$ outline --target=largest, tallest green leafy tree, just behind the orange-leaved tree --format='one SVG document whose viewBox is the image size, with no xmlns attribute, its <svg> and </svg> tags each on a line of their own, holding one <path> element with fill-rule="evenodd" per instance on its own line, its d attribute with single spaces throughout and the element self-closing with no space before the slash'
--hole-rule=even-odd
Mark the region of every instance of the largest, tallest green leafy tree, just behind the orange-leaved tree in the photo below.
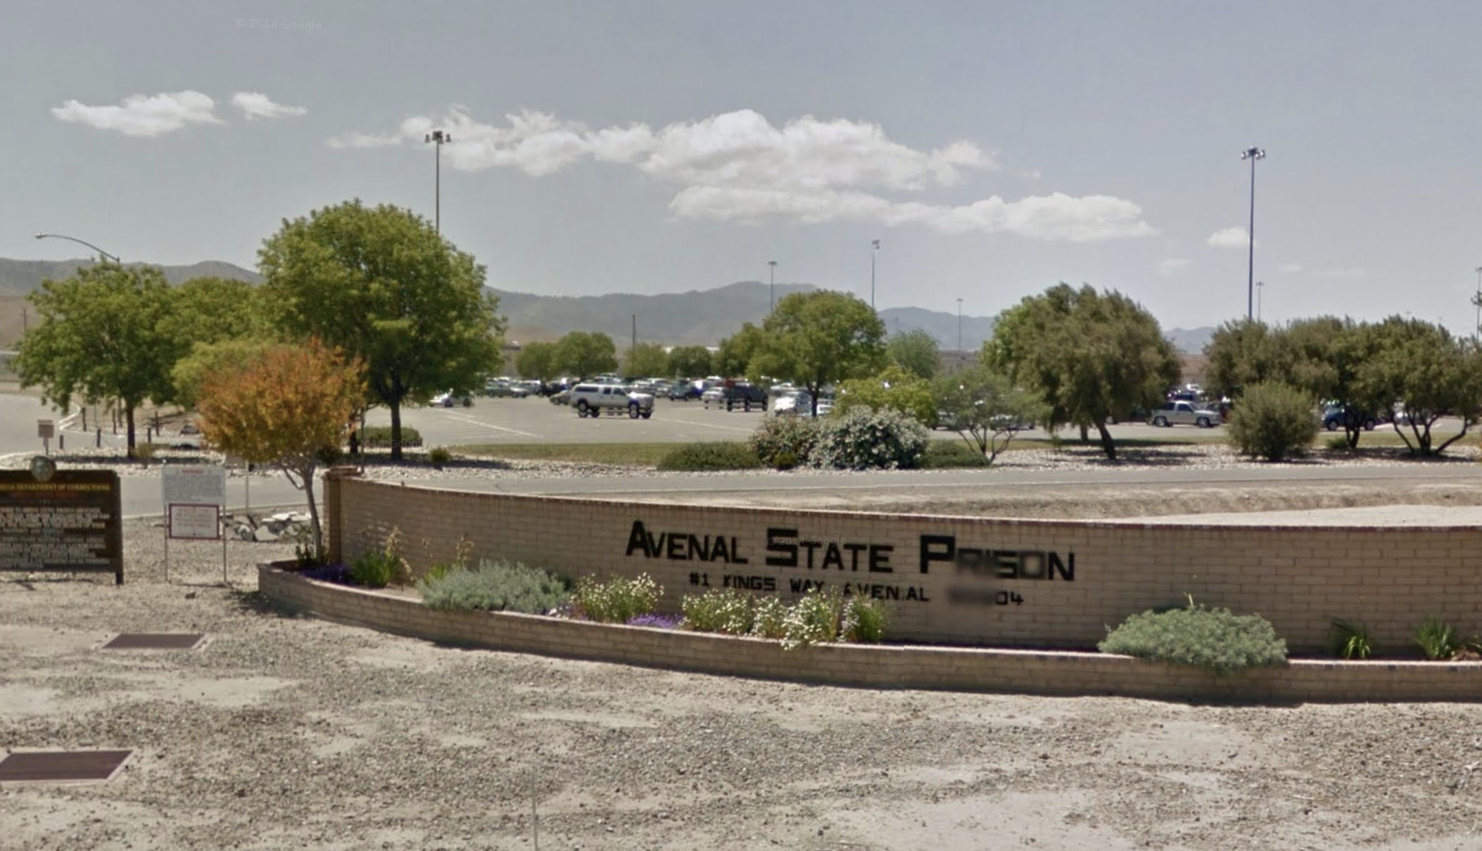
<svg viewBox="0 0 1482 851">
<path fill-rule="evenodd" d="M 485 268 L 409 210 L 359 200 L 285 221 L 258 250 L 262 297 L 293 337 L 319 337 L 365 363 L 370 397 L 391 413 L 442 391 L 471 394 L 502 363 L 498 299 Z"/>
</svg>

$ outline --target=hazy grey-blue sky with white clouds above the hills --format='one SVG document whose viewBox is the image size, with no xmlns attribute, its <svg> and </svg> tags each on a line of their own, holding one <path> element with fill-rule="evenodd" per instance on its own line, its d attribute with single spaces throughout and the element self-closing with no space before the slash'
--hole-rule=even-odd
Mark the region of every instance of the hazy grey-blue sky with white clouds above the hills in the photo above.
<svg viewBox="0 0 1482 851">
<path fill-rule="evenodd" d="M 541 295 L 812 283 L 991 315 L 1472 333 L 1482 3 L 4 0 L 0 256 L 256 265 L 353 197 Z"/>
</svg>

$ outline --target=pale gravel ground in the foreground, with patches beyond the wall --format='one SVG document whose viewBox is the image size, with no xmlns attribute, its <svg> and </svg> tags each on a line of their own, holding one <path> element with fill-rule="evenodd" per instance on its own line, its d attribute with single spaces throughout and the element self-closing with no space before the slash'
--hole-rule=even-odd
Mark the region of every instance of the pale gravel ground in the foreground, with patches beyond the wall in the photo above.
<svg viewBox="0 0 1482 851">
<path fill-rule="evenodd" d="M 1226 490 L 1212 503 L 1240 502 Z M 1026 512 L 1128 514 L 1106 500 Z M 0 848 L 1482 848 L 1482 706 L 868 691 L 455 650 L 267 608 L 252 565 L 288 546 L 228 545 L 222 588 L 215 545 L 172 546 L 166 583 L 162 530 L 124 537 L 122 588 L 0 574 L 0 747 L 136 749 L 107 784 L 0 786 Z M 117 632 L 209 639 L 98 650 Z"/>
</svg>

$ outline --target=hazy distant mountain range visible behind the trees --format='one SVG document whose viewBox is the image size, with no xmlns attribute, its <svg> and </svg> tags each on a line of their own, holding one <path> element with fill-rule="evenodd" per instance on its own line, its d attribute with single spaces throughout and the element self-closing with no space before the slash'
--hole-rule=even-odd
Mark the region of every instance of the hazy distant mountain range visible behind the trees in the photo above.
<svg viewBox="0 0 1482 851">
<path fill-rule="evenodd" d="M 13 348 L 19 340 L 30 311 L 25 293 L 36 290 L 46 278 L 61 280 L 92 260 L 12 260 L 0 258 L 0 348 Z M 160 266 L 166 280 L 178 284 L 188 278 L 215 275 L 249 283 L 261 283 L 256 272 L 221 260 L 205 260 L 188 266 Z M 811 292 L 811 284 L 777 284 L 777 297 Z M 508 318 L 505 334 L 514 342 L 554 340 L 566 332 L 600 332 L 627 348 L 634 330 L 640 342 L 662 345 L 717 345 L 734 334 L 742 323 L 760 324 L 771 311 L 772 290 L 763 281 L 738 281 L 711 290 L 661 293 L 608 293 L 603 296 L 536 296 L 489 287 L 499 299 L 499 312 Z M 993 334 L 994 317 L 972 317 L 922 308 L 885 308 L 880 311 L 885 329 L 901 333 L 922 329 L 943 351 L 977 351 Z M 1214 329 L 1172 329 L 1168 337 L 1184 352 L 1199 352 Z"/>
</svg>

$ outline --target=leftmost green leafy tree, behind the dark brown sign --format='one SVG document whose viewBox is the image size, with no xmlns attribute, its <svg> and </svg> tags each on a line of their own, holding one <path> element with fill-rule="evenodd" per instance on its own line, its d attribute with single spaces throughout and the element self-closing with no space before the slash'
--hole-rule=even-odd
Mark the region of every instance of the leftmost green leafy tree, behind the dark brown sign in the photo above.
<svg viewBox="0 0 1482 851">
<path fill-rule="evenodd" d="M 21 386 L 40 386 L 61 410 L 74 397 L 117 400 L 135 457 L 135 410 L 173 395 L 170 369 L 184 352 L 169 329 L 170 289 L 156 266 L 99 263 L 27 296 L 40 321 L 21 337 Z"/>
</svg>

